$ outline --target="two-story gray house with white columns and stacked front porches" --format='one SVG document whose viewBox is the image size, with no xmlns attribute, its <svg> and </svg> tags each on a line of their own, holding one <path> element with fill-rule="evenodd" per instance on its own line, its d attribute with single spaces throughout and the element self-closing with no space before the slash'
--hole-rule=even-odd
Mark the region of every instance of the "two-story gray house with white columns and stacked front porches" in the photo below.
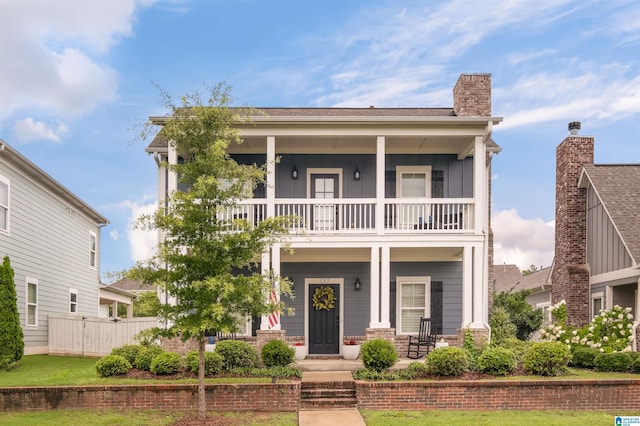
<svg viewBox="0 0 640 426">
<path fill-rule="evenodd" d="M 239 209 L 254 221 L 302 218 L 288 236 L 294 253 L 276 245 L 262 258 L 262 270 L 289 277 L 296 293 L 287 300 L 295 316 L 271 330 L 304 340 L 310 354 L 336 355 L 346 336 L 401 347 L 420 317 L 453 341 L 465 327 L 488 335 L 490 167 L 500 151 L 491 132 L 502 120 L 491 116 L 489 74 L 461 75 L 453 107 L 261 111 L 238 124 L 244 143 L 229 147 L 239 163 L 269 164 L 266 185 Z M 163 164 L 181 156 L 161 137 L 147 152 L 164 203 L 178 183 Z M 334 309 L 314 308 L 323 291 L 334 293 Z M 270 329 L 266 318 L 243 328 Z"/>
</svg>

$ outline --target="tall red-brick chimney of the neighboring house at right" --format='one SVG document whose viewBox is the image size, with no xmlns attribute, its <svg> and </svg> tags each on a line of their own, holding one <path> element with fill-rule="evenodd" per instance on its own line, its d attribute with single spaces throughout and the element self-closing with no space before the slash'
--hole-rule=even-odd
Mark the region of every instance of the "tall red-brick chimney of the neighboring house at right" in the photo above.
<svg viewBox="0 0 640 426">
<path fill-rule="evenodd" d="M 551 300 L 567 302 L 567 325 L 589 322 L 587 193 L 578 188 L 583 164 L 593 164 L 594 138 L 579 136 L 580 122 L 556 149 L 556 241 Z"/>
</svg>

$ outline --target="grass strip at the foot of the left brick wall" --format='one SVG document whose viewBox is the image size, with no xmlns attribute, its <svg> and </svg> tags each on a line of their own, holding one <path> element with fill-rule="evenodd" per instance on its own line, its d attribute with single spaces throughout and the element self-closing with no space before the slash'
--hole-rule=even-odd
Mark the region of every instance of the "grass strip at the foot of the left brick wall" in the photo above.
<svg viewBox="0 0 640 426">
<path fill-rule="evenodd" d="M 194 414 L 194 413 L 190 413 Z M 210 413 L 214 414 L 214 413 Z M 293 426 L 298 424 L 297 413 L 215 413 L 234 419 L 242 425 Z M 170 425 L 185 413 L 176 411 L 92 411 L 61 410 L 30 413 L 3 413 L 0 425 L 92 425 L 92 426 L 160 426 Z"/>
</svg>

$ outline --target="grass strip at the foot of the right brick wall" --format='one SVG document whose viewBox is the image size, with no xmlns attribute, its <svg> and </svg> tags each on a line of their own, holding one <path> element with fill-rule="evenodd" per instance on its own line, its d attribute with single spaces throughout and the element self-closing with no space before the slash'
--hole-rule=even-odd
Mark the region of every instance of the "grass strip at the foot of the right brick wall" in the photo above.
<svg viewBox="0 0 640 426">
<path fill-rule="evenodd" d="M 615 423 L 615 416 L 636 416 L 630 412 L 600 411 L 371 411 L 363 410 L 368 426 L 413 425 L 607 425 Z"/>
</svg>

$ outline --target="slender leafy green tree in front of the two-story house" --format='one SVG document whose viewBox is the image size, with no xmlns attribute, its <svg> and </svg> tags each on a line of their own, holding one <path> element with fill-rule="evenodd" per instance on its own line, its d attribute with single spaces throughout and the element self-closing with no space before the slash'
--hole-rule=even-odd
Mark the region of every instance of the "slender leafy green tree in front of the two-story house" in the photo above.
<svg viewBox="0 0 640 426">
<path fill-rule="evenodd" d="M 241 143 L 232 126 L 247 121 L 249 111 L 228 107 L 226 86 L 211 88 L 206 101 L 190 93 L 179 106 L 166 92 L 161 96 L 171 114 L 160 137 L 185 160 L 165 166 L 188 189 L 168 194 L 166 207 L 139 219 L 139 227 L 160 230 L 164 239 L 157 254 L 128 275 L 160 285 L 175 299 L 159 307 L 158 316 L 168 326 L 155 329 L 157 336 L 198 341 L 198 415 L 204 418 L 205 331 L 235 332 L 238 317 L 282 311 L 280 302 L 269 302 L 269 294 L 274 285 L 290 294 L 289 283 L 253 269 L 270 245 L 282 241 L 291 218 L 254 224 L 229 213 L 238 211 L 249 188 L 264 182 L 266 165 L 241 165 L 227 154 L 230 144 Z M 153 136 L 152 128 L 150 122 L 144 125 L 143 140 Z"/>
</svg>

